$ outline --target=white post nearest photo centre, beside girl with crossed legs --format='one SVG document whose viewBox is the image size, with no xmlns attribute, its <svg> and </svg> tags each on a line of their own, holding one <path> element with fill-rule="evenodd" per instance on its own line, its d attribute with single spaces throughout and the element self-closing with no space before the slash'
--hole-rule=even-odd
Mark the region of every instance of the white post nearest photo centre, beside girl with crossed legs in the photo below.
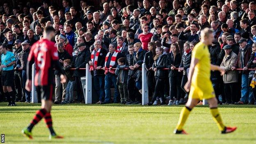
<svg viewBox="0 0 256 144">
<path fill-rule="evenodd" d="M 142 105 L 149 103 L 149 87 L 146 78 L 146 68 L 145 63 L 142 64 Z"/>
</svg>

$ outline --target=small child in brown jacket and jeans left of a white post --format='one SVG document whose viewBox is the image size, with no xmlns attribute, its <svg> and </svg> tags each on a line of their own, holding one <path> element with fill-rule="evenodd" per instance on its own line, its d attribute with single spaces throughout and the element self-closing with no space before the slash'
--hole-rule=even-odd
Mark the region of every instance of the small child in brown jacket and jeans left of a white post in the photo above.
<svg viewBox="0 0 256 144">
<path fill-rule="evenodd" d="M 72 65 L 70 59 L 65 59 L 64 61 L 64 71 L 66 72 L 68 78 L 68 84 L 66 86 L 66 99 L 65 103 L 73 102 L 73 71 L 70 71 Z"/>
</svg>

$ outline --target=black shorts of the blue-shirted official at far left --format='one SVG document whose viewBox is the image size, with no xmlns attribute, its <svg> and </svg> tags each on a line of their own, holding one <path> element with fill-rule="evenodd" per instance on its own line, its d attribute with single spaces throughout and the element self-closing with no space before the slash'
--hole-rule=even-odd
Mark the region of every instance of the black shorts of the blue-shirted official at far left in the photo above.
<svg viewBox="0 0 256 144">
<path fill-rule="evenodd" d="M 14 86 L 14 70 L 2 71 L 2 86 Z"/>
</svg>

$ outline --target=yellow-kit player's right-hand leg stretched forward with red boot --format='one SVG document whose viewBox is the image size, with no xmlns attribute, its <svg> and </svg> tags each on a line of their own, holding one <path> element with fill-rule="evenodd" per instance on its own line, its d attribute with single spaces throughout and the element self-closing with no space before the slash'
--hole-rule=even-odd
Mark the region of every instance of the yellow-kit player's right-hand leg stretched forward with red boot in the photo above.
<svg viewBox="0 0 256 144">
<path fill-rule="evenodd" d="M 209 103 L 209 107 L 210 107 L 210 112 L 213 116 L 214 121 L 217 123 L 217 126 L 219 128 L 219 130 L 224 134 L 224 133 L 232 133 L 233 131 L 236 130 L 236 127 L 226 127 L 224 126 L 223 122 L 222 122 L 222 118 L 219 114 L 219 110 L 217 108 L 218 106 L 218 101 L 216 99 L 216 97 L 214 98 L 210 98 L 207 100 Z"/>
</svg>

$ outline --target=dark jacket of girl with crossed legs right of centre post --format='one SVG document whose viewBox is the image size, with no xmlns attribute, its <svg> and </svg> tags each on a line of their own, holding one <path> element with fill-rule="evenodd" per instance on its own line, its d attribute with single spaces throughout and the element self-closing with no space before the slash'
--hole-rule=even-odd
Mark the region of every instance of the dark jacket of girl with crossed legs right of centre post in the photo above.
<svg viewBox="0 0 256 144">
<path fill-rule="evenodd" d="M 155 77 L 159 78 L 159 79 L 165 79 L 166 75 L 167 75 L 167 71 L 166 70 L 162 70 L 164 68 L 166 68 L 167 66 L 167 54 L 163 53 L 160 57 L 158 57 L 158 59 L 156 59 L 154 61 L 154 64 L 152 66 L 152 68 L 156 68 L 157 71 L 155 71 Z"/>
</svg>

